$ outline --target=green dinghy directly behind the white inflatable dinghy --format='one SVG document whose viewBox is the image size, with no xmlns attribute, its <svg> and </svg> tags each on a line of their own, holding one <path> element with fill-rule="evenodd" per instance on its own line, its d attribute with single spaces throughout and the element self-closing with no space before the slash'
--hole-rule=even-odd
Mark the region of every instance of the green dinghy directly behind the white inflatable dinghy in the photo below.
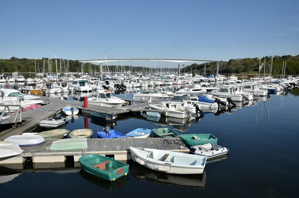
<svg viewBox="0 0 299 198">
<path fill-rule="evenodd" d="M 217 144 L 218 139 L 212 134 L 183 134 L 179 138 L 188 147 L 207 143 Z"/>
</svg>

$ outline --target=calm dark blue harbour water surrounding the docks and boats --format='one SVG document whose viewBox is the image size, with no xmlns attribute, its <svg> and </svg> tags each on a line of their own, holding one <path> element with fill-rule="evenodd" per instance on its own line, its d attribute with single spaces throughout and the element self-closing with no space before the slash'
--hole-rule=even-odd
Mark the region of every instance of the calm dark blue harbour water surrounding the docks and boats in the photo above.
<svg viewBox="0 0 299 198">
<path fill-rule="evenodd" d="M 132 93 L 125 95 L 132 97 Z M 80 95 L 65 99 L 76 98 L 80 99 Z M 232 110 L 233 113 L 218 116 L 207 113 L 197 123 L 193 120 L 177 125 L 180 121 L 165 118 L 152 121 L 138 114 L 129 118 L 119 116 L 113 127 L 124 134 L 136 128 L 161 126 L 184 134 L 212 133 L 218 138 L 219 145 L 230 149 L 229 156 L 207 164 L 204 174 L 195 176 L 157 173 L 128 161 L 130 176 L 114 183 L 94 178 L 80 169 L 22 173 L 3 170 L 2 167 L 0 175 L 21 174 L 10 182 L 0 184 L 0 192 L 1 195 L 30 197 L 297 197 L 298 110 L 299 89 L 296 89 L 285 95 L 271 95 L 265 101 L 254 101 Z M 65 129 L 74 130 L 85 125 L 94 131 L 93 138 L 97 138 L 96 133 L 106 124 L 79 116 Z"/>
</svg>

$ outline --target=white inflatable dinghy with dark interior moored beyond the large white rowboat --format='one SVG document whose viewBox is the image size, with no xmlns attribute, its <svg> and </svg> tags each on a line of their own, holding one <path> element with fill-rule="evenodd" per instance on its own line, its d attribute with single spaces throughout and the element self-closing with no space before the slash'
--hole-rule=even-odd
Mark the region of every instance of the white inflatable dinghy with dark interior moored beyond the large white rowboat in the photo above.
<svg viewBox="0 0 299 198">
<path fill-rule="evenodd" d="M 208 160 L 225 155 L 228 151 L 229 149 L 213 143 L 190 147 L 190 153 L 193 153 L 194 155 L 205 156 Z"/>
</svg>

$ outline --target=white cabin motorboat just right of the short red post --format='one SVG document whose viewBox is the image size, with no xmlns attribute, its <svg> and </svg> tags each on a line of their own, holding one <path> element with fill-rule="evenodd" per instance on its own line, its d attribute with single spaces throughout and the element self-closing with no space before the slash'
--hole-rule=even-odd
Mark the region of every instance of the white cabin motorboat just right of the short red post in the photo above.
<svg viewBox="0 0 299 198">
<path fill-rule="evenodd" d="M 124 100 L 118 98 L 114 92 L 109 90 L 99 90 L 96 97 L 91 97 L 87 100 L 89 104 L 115 108 L 121 107 L 125 103 Z"/>
</svg>

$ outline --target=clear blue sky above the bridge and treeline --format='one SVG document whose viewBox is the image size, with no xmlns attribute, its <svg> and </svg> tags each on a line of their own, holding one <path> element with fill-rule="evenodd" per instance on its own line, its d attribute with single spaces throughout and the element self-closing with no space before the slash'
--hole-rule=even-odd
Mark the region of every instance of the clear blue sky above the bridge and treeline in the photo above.
<svg viewBox="0 0 299 198">
<path fill-rule="evenodd" d="M 0 58 L 299 54 L 298 0 L 1 0 L 0 7 Z"/>
</svg>

